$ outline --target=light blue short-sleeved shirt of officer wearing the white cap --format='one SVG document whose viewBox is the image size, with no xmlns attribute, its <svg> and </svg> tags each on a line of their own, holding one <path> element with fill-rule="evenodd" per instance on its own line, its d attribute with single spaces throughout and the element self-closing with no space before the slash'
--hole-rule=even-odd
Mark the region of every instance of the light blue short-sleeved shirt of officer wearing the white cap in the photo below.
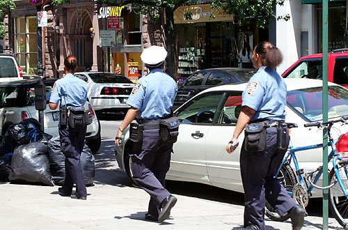
<svg viewBox="0 0 348 230">
<path fill-rule="evenodd" d="M 171 114 L 176 93 L 174 79 L 156 68 L 136 82 L 127 104 L 139 109 L 136 118 L 165 118 Z"/>
</svg>

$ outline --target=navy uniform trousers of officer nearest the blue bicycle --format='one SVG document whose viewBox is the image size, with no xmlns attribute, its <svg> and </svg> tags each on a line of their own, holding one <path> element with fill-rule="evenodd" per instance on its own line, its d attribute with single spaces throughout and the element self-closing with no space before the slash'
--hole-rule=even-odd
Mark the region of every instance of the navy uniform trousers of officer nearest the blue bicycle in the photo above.
<svg viewBox="0 0 348 230">
<path fill-rule="evenodd" d="M 240 167 L 244 187 L 244 227 L 254 224 L 264 230 L 265 200 L 279 215 L 296 206 L 283 185 L 274 178 L 286 150 L 277 148 L 277 128 L 267 128 L 266 148 L 263 152 L 247 152 L 242 146 Z M 287 145 L 289 135 L 287 135 Z"/>
</svg>

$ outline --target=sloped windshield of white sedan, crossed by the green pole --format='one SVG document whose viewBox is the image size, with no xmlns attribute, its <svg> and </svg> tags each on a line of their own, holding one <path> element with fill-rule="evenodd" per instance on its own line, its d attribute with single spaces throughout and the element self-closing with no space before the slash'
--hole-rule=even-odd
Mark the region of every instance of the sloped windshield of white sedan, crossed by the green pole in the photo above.
<svg viewBox="0 0 348 230">
<path fill-rule="evenodd" d="M 348 115 L 348 91 L 340 86 L 329 86 L 329 118 Z M 322 87 L 287 92 L 287 105 L 308 121 L 322 120 Z"/>
</svg>

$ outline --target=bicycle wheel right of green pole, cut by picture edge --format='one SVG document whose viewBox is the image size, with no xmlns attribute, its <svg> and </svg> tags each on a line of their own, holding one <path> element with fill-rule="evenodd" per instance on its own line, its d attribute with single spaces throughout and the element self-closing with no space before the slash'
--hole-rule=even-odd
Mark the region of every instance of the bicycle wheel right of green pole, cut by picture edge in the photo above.
<svg viewBox="0 0 348 230">
<path fill-rule="evenodd" d="M 348 160 L 341 160 L 339 162 L 339 175 L 345 190 L 348 190 Z M 335 171 L 331 169 L 329 175 L 329 185 L 337 181 Z M 343 228 L 348 229 L 348 198 L 343 194 L 339 183 L 329 188 L 329 208 L 333 217 L 342 225 Z"/>
</svg>

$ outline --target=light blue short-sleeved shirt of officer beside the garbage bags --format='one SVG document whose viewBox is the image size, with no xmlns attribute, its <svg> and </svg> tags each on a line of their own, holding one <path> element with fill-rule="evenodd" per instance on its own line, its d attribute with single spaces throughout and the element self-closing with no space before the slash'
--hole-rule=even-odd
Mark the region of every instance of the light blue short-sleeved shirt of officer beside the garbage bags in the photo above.
<svg viewBox="0 0 348 230">
<path fill-rule="evenodd" d="M 49 102 L 57 104 L 61 101 L 61 106 L 81 107 L 86 98 L 87 83 L 69 73 L 54 83 Z"/>
</svg>

